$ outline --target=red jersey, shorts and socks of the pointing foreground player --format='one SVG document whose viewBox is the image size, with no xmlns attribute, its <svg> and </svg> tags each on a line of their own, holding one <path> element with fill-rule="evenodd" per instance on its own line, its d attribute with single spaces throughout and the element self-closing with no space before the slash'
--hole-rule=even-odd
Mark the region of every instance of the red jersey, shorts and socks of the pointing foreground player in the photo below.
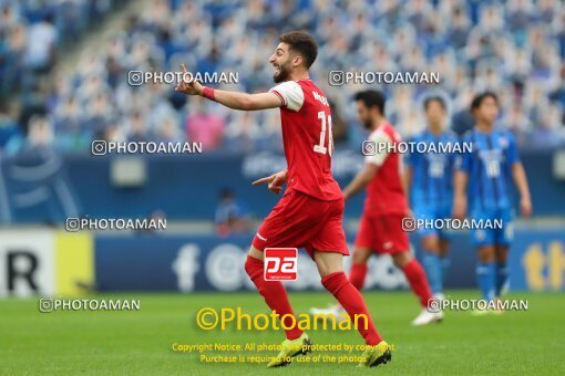
<svg viewBox="0 0 565 376">
<path fill-rule="evenodd" d="M 349 254 L 341 226 L 343 195 L 331 176 L 331 112 L 328 100 L 310 80 L 287 81 L 270 90 L 280 98 L 282 143 L 288 180 L 285 195 L 259 227 L 253 246 L 263 251 L 270 247 L 306 248 L 314 251 Z M 265 281 L 263 260 L 247 257 L 245 271 L 273 311 L 290 320 L 292 309 L 280 281 Z M 351 320 L 361 314 L 370 317 L 360 292 L 342 271 L 321 278 L 321 284 L 343 306 Z M 372 320 L 359 333 L 370 346 L 382 338 Z M 287 340 L 302 335 L 299 327 L 286 331 Z"/>
</svg>

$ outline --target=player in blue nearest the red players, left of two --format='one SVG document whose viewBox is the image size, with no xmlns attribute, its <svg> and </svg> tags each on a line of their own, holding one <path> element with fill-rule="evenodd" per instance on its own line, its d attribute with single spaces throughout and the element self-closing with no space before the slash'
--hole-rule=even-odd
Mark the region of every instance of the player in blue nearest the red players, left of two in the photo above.
<svg viewBox="0 0 565 376">
<path fill-rule="evenodd" d="M 424 103 L 428 127 L 412 142 L 430 145 L 425 150 L 438 153 L 411 153 L 405 158 L 404 178 L 410 192 L 410 207 L 415 219 L 436 220 L 451 218 L 453 202 L 453 169 L 455 165 L 454 145 L 458 137 L 445 130 L 446 104 L 441 96 L 429 96 Z M 420 148 L 419 148 L 420 149 Z M 443 279 L 449 268 L 449 237 L 439 228 L 420 228 L 418 234 L 422 241 L 422 263 L 430 281 L 430 288 L 436 299 L 443 299 Z"/>
</svg>

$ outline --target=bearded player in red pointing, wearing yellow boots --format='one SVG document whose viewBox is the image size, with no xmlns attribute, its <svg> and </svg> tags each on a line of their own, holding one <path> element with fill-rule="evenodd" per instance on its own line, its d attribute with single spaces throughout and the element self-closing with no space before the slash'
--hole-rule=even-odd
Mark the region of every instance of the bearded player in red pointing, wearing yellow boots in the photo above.
<svg viewBox="0 0 565 376">
<path fill-rule="evenodd" d="M 367 346 L 361 365 L 372 367 L 391 358 L 390 346 L 382 341 L 358 289 L 347 279 L 342 258 L 348 255 L 341 220 L 343 195 L 331 176 L 331 113 L 323 92 L 309 79 L 309 69 L 318 54 L 311 35 L 289 32 L 269 59 L 277 85 L 268 93 L 246 94 L 205 87 L 198 82 L 181 82 L 177 91 L 202 95 L 229 108 L 254 111 L 280 108 L 287 169 L 254 181 L 268 184 L 275 194 L 285 195 L 259 227 L 245 270 L 267 305 L 292 326 L 292 309 L 280 281 L 264 279 L 264 250 L 271 247 L 306 248 L 316 262 L 321 283 L 359 320 L 359 332 Z M 184 72 L 186 69 L 182 65 Z M 294 317 L 294 322 L 297 320 Z M 292 356 L 305 354 L 310 338 L 298 327 L 286 330 L 287 340 L 268 367 L 284 366 Z M 302 345 L 306 345 L 302 347 Z"/>
</svg>

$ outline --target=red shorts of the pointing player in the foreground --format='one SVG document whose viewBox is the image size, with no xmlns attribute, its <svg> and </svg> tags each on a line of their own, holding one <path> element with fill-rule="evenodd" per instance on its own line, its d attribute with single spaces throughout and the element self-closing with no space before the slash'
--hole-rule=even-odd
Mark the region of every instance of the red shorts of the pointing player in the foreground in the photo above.
<svg viewBox="0 0 565 376">
<path fill-rule="evenodd" d="M 305 248 L 349 254 L 341 226 L 343 199 L 322 201 L 297 190 L 287 192 L 253 239 L 259 251 L 271 247 Z"/>
</svg>

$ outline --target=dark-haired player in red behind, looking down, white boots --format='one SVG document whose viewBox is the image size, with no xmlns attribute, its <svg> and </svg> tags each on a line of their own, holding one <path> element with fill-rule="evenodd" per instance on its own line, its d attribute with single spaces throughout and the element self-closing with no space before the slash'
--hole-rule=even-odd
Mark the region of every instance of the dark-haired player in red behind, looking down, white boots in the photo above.
<svg viewBox="0 0 565 376">
<path fill-rule="evenodd" d="M 361 290 L 367 275 L 367 262 L 372 252 L 388 253 L 394 265 L 407 276 L 422 305 L 422 312 L 412 324 L 424 325 L 441 321 L 442 312 L 428 311 L 428 301 L 432 299 L 428 278 L 410 253 L 408 234 L 402 229 L 402 219 L 411 216 L 403 188 L 402 159 L 394 146 L 401 142 L 401 137 L 384 117 L 386 100 L 380 92 L 359 92 L 356 102 L 358 118 L 371 134 L 369 144 L 363 144 L 364 167 L 343 190 L 347 200 L 367 187 L 349 280 Z M 312 309 L 311 313 L 338 315 L 341 310 L 337 305 L 326 310 Z"/>
</svg>

